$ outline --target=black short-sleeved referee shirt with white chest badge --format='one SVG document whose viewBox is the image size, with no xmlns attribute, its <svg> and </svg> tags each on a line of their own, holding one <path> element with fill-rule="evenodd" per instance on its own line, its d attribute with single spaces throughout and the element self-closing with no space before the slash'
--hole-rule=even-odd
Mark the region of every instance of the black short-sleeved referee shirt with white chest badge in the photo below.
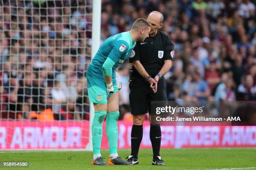
<svg viewBox="0 0 256 170">
<path fill-rule="evenodd" d="M 129 62 L 139 60 L 146 72 L 155 77 L 164 65 L 164 60 L 172 60 L 174 44 L 164 32 L 157 30 L 154 37 L 147 37 L 143 42 L 136 42 L 131 52 Z M 133 75 L 139 75 L 133 67 Z"/>
</svg>

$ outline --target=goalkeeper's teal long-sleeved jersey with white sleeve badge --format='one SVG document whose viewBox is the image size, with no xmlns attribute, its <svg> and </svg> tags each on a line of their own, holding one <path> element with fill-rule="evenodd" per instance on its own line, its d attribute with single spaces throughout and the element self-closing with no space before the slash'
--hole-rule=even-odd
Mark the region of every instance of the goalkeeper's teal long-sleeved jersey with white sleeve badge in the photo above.
<svg viewBox="0 0 256 170">
<path fill-rule="evenodd" d="M 130 56 L 135 45 L 136 42 L 133 43 L 129 31 L 109 37 L 102 43 L 96 55 L 93 57 L 92 62 L 87 68 L 87 75 L 104 80 L 102 65 L 109 57 L 115 62 L 115 65 L 112 67 L 112 80 L 115 82 L 116 68 Z"/>
</svg>

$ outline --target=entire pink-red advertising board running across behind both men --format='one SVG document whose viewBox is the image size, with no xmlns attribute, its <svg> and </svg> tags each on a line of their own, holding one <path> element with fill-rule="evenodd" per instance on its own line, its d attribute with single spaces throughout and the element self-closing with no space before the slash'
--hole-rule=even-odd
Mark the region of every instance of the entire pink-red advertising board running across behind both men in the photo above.
<svg viewBox="0 0 256 170">
<path fill-rule="evenodd" d="M 132 122 L 118 122 L 118 148 L 131 147 Z M 143 125 L 141 148 L 151 148 L 150 125 Z M 161 126 L 161 148 L 256 147 L 256 126 Z M 0 122 L 0 150 L 84 149 L 89 122 Z M 102 149 L 108 149 L 103 124 Z"/>
</svg>

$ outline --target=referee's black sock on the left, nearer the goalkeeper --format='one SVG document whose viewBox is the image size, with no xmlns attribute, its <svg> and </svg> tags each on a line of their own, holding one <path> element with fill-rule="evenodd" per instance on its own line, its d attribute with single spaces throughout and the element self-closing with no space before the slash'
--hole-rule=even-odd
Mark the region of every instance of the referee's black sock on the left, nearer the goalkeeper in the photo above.
<svg viewBox="0 0 256 170">
<path fill-rule="evenodd" d="M 143 136 L 143 125 L 133 125 L 131 131 L 131 155 L 138 158 L 138 150 Z M 151 137 L 150 137 L 151 138 Z"/>
</svg>

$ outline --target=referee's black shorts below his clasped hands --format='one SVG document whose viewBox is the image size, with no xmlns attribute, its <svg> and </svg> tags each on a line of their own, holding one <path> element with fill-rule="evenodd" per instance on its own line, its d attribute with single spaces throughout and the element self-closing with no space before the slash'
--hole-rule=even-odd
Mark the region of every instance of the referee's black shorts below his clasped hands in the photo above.
<svg viewBox="0 0 256 170">
<path fill-rule="evenodd" d="M 141 76 L 135 77 L 129 84 L 130 105 L 132 115 L 151 114 L 151 101 L 166 101 L 166 80 L 161 77 L 157 83 L 157 92 L 154 93 L 149 83 Z"/>
</svg>

